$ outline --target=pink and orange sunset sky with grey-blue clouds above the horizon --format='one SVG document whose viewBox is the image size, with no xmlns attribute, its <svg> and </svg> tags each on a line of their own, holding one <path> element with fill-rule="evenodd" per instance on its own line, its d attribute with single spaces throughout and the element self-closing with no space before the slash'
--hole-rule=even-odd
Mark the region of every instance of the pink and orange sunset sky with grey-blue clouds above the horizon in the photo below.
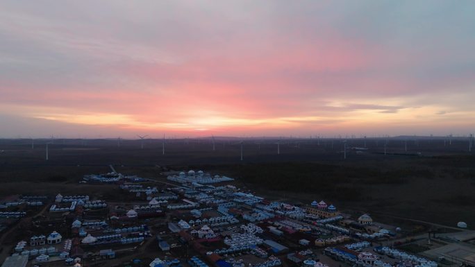
<svg viewBox="0 0 475 267">
<path fill-rule="evenodd" d="M 0 2 L 0 137 L 469 135 L 475 1 Z"/>
</svg>

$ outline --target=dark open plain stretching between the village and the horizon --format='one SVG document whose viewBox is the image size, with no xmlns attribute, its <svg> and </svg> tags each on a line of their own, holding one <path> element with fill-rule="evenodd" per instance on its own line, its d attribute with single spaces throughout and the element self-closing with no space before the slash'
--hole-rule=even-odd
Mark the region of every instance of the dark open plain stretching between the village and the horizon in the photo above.
<svg viewBox="0 0 475 267">
<path fill-rule="evenodd" d="M 0 197 L 11 194 L 115 195 L 112 185 L 78 184 L 83 175 L 110 171 L 164 180 L 163 171 L 203 169 L 294 203 L 326 200 L 344 211 L 381 220 L 411 218 L 475 225 L 475 154 L 465 139 L 245 140 L 0 140 Z M 368 150 L 356 152 L 351 147 Z M 407 151 L 406 151 L 407 146 Z M 384 152 L 386 150 L 386 153 Z"/>
</svg>

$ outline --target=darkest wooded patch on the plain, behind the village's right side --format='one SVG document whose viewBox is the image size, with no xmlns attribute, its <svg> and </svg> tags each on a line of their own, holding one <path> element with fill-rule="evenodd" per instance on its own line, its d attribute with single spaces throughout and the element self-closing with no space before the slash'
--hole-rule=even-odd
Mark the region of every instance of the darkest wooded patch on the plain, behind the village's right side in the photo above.
<svg viewBox="0 0 475 267">
<path fill-rule="evenodd" d="M 474 179 L 473 157 L 428 157 L 415 160 L 381 160 L 328 164 L 320 162 L 278 162 L 254 164 L 195 165 L 226 173 L 246 184 L 264 189 L 319 193 L 339 200 L 361 200 L 369 185 L 398 186 L 411 179 Z"/>
</svg>

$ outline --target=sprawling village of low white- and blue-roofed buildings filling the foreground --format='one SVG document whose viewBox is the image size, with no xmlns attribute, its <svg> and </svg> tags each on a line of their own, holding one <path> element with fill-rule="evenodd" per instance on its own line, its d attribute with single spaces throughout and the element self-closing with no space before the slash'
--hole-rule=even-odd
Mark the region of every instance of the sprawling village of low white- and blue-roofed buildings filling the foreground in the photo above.
<svg viewBox="0 0 475 267">
<path fill-rule="evenodd" d="M 2 246 L 8 256 L 2 267 L 436 267 L 475 261 L 469 243 L 475 234 L 463 222 L 454 230 L 460 239 L 415 232 L 370 214 L 344 214 L 331 200 L 293 205 L 256 196 L 233 178 L 204 171 L 172 171 L 156 181 L 114 170 L 84 175 L 80 183 L 115 184 L 121 197 L 52 192 L 0 201 L 1 233 L 22 236 L 11 248 Z M 424 246 L 430 247 L 408 249 Z M 460 257 L 447 254 L 453 246 Z"/>
</svg>

